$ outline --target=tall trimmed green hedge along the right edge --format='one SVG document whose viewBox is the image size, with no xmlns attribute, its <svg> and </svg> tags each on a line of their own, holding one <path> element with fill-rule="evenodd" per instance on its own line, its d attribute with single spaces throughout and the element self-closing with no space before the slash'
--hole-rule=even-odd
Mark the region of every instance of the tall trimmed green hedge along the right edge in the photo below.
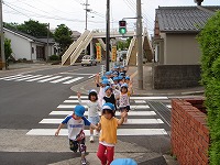
<svg viewBox="0 0 220 165">
<path fill-rule="evenodd" d="M 202 52 L 201 82 L 205 86 L 210 130 L 210 164 L 220 165 L 220 11 L 209 19 L 198 41 Z"/>
</svg>

